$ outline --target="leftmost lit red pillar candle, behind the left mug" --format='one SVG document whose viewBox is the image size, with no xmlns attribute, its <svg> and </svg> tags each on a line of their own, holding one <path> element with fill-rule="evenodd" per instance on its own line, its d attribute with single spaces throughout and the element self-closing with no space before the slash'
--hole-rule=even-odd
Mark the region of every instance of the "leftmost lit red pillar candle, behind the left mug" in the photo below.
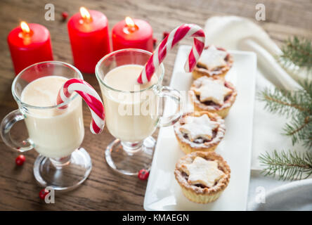
<svg viewBox="0 0 312 225">
<path fill-rule="evenodd" d="M 16 75 L 29 65 L 53 60 L 50 32 L 36 23 L 20 23 L 8 34 L 8 47 Z"/>
</svg>

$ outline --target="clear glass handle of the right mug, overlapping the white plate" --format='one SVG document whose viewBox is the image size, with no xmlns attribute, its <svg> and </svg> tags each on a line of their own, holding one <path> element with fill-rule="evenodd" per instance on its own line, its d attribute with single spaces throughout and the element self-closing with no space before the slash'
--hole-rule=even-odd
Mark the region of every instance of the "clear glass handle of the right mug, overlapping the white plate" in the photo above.
<svg viewBox="0 0 312 225">
<path fill-rule="evenodd" d="M 183 99 L 181 97 L 180 92 L 169 86 L 162 86 L 162 88 L 160 89 L 157 95 L 160 96 L 160 98 L 170 98 L 171 100 L 176 102 L 176 112 L 167 117 L 164 117 L 164 116 L 160 117 L 158 126 L 168 127 L 178 122 L 178 120 L 181 118 L 183 114 Z M 166 111 L 167 107 L 168 107 L 168 104 L 165 104 L 164 112 Z"/>
</svg>

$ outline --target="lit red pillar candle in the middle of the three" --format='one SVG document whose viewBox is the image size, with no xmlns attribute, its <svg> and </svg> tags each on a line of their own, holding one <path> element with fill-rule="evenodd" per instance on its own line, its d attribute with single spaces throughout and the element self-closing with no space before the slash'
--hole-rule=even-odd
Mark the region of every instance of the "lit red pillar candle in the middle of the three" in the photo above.
<svg viewBox="0 0 312 225">
<path fill-rule="evenodd" d="M 82 72 L 94 73 L 98 60 L 110 53 L 108 19 L 103 13 L 81 7 L 67 27 L 74 65 Z"/>
</svg>

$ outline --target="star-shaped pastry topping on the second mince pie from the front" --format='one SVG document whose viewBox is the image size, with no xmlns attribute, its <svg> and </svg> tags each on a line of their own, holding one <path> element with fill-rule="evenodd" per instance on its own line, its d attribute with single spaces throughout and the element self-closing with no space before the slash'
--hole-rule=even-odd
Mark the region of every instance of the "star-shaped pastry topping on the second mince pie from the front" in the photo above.
<svg viewBox="0 0 312 225">
<path fill-rule="evenodd" d="M 183 134 L 188 135 L 190 141 L 194 141 L 198 138 L 204 138 L 207 140 L 212 139 L 212 131 L 219 126 L 218 122 L 214 122 L 204 114 L 201 117 L 186 117 L 185 124 L 180 127 L 180 131 Z"/>
</svg>

